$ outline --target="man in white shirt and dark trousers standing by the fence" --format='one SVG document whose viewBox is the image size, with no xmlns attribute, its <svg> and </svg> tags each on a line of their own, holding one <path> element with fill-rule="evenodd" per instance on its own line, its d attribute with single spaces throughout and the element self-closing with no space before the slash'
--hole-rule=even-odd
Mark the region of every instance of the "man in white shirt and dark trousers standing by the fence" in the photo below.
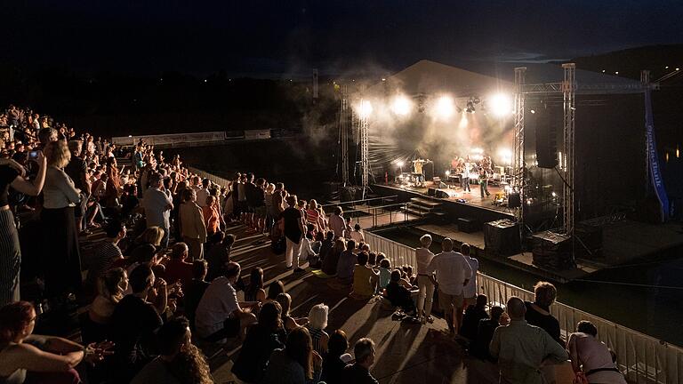
<svg viewBox="0 0 683 384">
<path fill-rule="evenodd" d="M 441 242 L 441 250 L 431 260 L 426 273 L 431 275 L 436 272 L 438 303 L 444 311 L 449 331 L 457 334 L 462 321 L 463 289 L 470 281 L 472 268 L 462 253 L 453 251 L 453 240 L 450 238 L 446 237 Z"/>
</svg>

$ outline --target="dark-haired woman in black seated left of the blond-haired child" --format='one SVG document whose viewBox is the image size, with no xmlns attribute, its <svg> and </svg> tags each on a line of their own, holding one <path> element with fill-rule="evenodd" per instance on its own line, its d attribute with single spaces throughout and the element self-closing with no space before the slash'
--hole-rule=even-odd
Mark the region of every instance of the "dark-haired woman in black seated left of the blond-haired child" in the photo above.
<svg viewBox="0 0 683 384">
<path fill-rule="evenodd" d="M 270 354 L 285 348 L 287 332 L 282 323 L 282 308 L 277 301 L 265 303 L 259 311 L 259 322 L 246 333 L 232 372 L 237 379 L 247 383 L 259 383 L 268 366 Z"/>
</svg>

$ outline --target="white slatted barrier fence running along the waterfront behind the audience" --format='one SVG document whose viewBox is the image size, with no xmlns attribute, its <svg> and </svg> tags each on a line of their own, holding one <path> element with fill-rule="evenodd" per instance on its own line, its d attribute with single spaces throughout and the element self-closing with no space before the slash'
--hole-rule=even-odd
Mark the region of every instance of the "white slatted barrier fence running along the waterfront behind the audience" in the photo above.
<svg viewBox="0 0 683 384">
<path fill-rule="evenodd" d="M 370 249 L 384 252 L 392 267 L 404 264 L 416 265 L 414 248 L 370 232 L 366 232 L 364 236 Z M 533 292 L 515 285 L 481 273 L 477 275 L 477 278 L 478 292 L 486 294 L 488 300 L 495 304 L 504 304 L 510 296 L 517 296 L 522 300 L 534 300 Z M 676 304 L 672 303 L 672 305 Z M 598 327 L 598 339 L 615 351 L 617 363 L 629 382 L 637 384 L 683 383 L 683 348 L 667 344 L 662 340 L 569 307 L 561 302 L 553 304 L 550 312 L 558 319 L 564 339 L 568 333 L 575 331 L 575 326 L 580 320 L 589 320 L 595 324 Z"/>
</svg>

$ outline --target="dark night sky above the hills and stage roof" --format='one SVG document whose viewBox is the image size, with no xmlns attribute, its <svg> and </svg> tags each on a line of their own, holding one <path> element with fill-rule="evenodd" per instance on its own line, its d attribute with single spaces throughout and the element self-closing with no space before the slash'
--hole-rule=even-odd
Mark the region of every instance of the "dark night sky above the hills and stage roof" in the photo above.
<svg viewBox="0 0 683 384">
<path fill-rule="evenodd" d="M 198 75 L 563 60 L 683 42 L 683 1 L 15 1 L 0 60 Z"/>
</svg>

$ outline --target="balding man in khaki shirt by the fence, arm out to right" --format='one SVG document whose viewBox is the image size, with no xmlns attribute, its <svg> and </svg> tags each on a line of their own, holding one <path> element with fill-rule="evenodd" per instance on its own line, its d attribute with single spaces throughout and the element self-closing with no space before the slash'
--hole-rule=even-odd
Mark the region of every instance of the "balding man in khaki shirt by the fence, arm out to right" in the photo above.
<svg viewBox="0 0 683 384">
<path fill-rule="evenodd" d="M 526 324 L 526 305 L 518 297 L 510 297 L 506 312 L 510 324 L 495 329 L 489 350 L 498 359 L 501 383 L 540 384 L 542 366 L 568 359 L 566 350 L 548 332 Z"/>
</svg>

